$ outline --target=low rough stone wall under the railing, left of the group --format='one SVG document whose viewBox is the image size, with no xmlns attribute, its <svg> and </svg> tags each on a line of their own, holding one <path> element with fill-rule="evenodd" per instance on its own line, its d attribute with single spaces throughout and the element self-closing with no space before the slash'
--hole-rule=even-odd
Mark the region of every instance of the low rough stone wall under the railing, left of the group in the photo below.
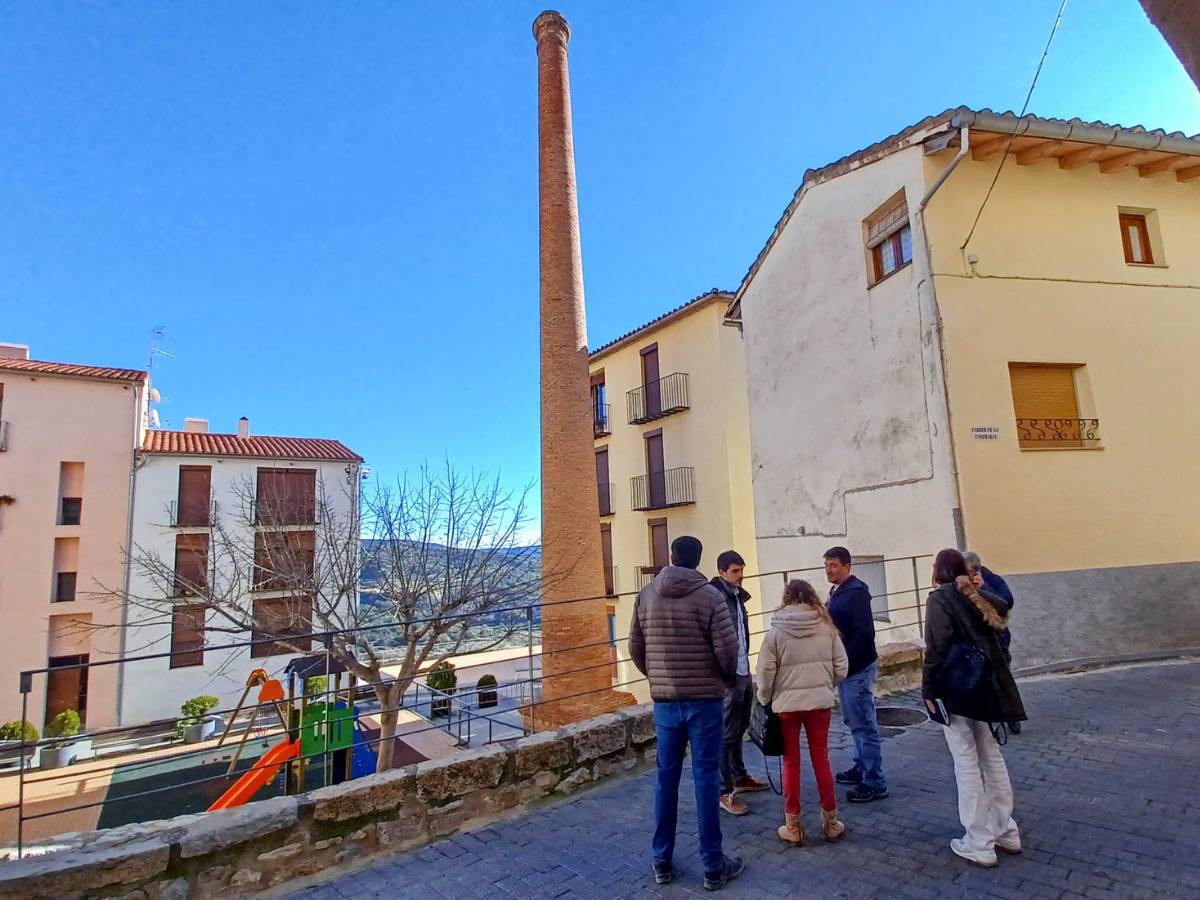
<svg viewBox="0 0 1200 900">
<path fill-rule="evenodd" d="M 239 809 L 72 834 L 0 863 L 0 900 L 245 896 L 484 827 L 654 758 L 649 704 Z M 64 846 L 65 845 L 65 846 Z"/>
</svg>

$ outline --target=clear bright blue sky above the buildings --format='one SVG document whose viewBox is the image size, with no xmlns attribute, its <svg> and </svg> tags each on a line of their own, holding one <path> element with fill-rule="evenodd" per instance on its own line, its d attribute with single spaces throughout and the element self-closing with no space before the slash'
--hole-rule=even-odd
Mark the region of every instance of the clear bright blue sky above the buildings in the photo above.
<svg viewBox="0 0 1200 900">
<path fill-rule="evenodd" d="M 0 340 L 145 366 L 169 426 L 395 476 L 538 473 L 530 2 L 0 6 Z M 736 288 L 809 167 L 1019 108 L 1058 0 L 562 2 L 593 346 Z M 1200 132 L 1135 0 L 1073 0 L 1031 112 Z"/>
</svg>

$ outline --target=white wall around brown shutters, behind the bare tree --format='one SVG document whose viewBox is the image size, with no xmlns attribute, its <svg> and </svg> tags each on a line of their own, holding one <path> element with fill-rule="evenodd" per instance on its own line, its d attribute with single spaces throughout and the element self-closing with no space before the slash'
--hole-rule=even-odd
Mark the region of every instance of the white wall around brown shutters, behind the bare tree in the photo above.
<svg viewBox="0 0 1200 900">
<path fill-rule="evenodd" d="M 253 535 L 241 524 L 245 517 L 238 511 L 240 499 L 236 486 L 242 479 L 254 482 L 259 467 L 317 469 L 317 492 L 320 497 L 324 485 L 325 499 L 336 510 L 336 521 L 344 523 L 358 497 L 359 464 L 319 461 L 245 460 L 206 456 L 145 455 L 136 478 L 133 511 L 133 546 L 142 552 L 158 553 L 173 563 L 175 535 L 180 532 L 170 527 L 169 505 L 179 494 L 179 467 L 211 466 L 212 499 L 217 504 L 220 521 L 240 532 L 248 546 Z M 352 467 L 348 478 L 346 467 Z M 324 528 L 318 524 L 318 530 Z M 185 529 L 204 530 L 204 529 Z M 320 538 L 318 536 L 318 544 Z M 240 541 L 239 541 L 240 542 Z M 136 552 L 138 552 L 136 551 Z M 210 556 L 211 556 L 210 541 Z M 211 563 L 210 563 L 211 564 Z M 220 574 L 217 577 L 222 577 Z M 228 570 L 226 571 L 228 577 Z M 155 584 L 137 571 L 131 574 L 131 596 L 148 596 L 155 593 Z M 186 601 L 184 601 L 186 602 Z M 170 625 L 162 622 L 161 611 L 148 611 L 136 605 L 127 607 L 130 628 L 126 632 L 125 653 L 128 656 L 167 653 L 170 650 Z M 210 622 L 214 613 L 210 613 Z M 152 624 L 138 623 L 151 622 Z M 314 625 L 316 626 L 316 625 Z M 251 638 L 250 632 L 209 632 L 208 643 L 226 644 Z M 318 648 L 314 646 L 313 652 Z M 293 654 L 294 655 L 294 654 Z M 190 697 L 209 694 L 221 700 L 220 708 L 233 707 L 246 684 L 251 670 L 265 668 L 271 676 L 281 677 L 292 655 L 251 659 L 250 648 L 235 650 L 206 650 L 203 666 L 170 668 L 169 658 L 126 662 L 121 666 L 121 724 L 138 724 L 179 715 L 179 707 Z M 252 694 L 250 702 L 254 702 Z"/>
</svg>

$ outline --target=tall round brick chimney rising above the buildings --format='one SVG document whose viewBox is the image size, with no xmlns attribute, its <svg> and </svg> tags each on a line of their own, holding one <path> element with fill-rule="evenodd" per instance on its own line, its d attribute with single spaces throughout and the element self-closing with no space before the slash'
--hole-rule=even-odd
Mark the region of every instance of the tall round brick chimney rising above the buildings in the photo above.
<svg viewBox="0 0 1200 900">
<path fill-rule="evenodd" d="M 533 23 L 538 41 L 538 173 L 541 236 L 542 703 L 547 728 L 612 712 L 631 697 L 612 690 L 600 550 L 595 451 L 583 314 L 580 208 L 575 196 L 571 88 L 557 12 Z M 581 602 L 564 600 L 595 598 Z M 557 602 L 557 605 L 556 605 Z M 583 649 L 565 648 L 590 644 Z M 582 670 L 582 671 L 576 671 Z"/>
</svg>

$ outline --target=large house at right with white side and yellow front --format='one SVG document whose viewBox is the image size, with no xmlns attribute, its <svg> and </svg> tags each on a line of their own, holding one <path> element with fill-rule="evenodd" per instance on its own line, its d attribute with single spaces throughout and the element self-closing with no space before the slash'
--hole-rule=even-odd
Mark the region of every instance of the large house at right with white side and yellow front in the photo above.
<svg viewBox="0 0 1200 900">
<path fill-rule="evenodd" d="M 1021 665 L 1200 646 L 1198 246 L 1177 133 L 959 108 L 808 172 L 728 317 L 762 566 L 970 546 Z"/>
</svg>

